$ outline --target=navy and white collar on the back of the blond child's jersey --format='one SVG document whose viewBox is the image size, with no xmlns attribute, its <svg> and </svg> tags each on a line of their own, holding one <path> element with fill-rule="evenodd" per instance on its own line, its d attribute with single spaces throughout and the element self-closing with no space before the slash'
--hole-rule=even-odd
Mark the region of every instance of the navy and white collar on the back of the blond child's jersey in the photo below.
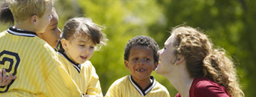
<svg viewBox="0 0 256 97">
<path fill-rule="evenodd" d="M 24 37 L 37 36 L 37 34 L 35 32 L 25 31 L 22 29 L 16 29 L 14 27 L 9 27 L 9 29 L 7 29 L 7 32 L 9 32 L 10 34 L 15 34 L 15 35 L 24 36 Z"/>
</svg>

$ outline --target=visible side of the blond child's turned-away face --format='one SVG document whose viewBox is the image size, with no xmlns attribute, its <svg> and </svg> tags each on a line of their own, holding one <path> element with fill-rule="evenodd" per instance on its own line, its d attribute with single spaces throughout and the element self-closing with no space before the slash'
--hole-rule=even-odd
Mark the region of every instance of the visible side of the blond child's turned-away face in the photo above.
<svg viewBox="0 0 256 97">
<path fill-rule="evenodd" d="M 52 19 L 52 16 L 51 16 L 52 11 L 53 11 L 53 3 L 50 3 L 46 7 L 43 16 L 40 18 L 38 17 L 38 19 L 36 19 L 37 27 L 35 28 L 36 29 L 35 32 L 37 33 L 45 32 L 46 27 L 50 23 L 50 19 Z"/>
</svg>

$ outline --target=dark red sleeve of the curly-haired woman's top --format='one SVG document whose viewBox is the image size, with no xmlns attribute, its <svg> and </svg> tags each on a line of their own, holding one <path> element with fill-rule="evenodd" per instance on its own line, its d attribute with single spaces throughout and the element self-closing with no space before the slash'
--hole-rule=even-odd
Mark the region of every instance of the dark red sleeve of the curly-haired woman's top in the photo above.
<svg viewBox="0 0 256 97">
<path fill-rule="evenodd" d="M 224 88 L 211 83 L 200 83 L 195 87 L 195 97 L 229 97 Z"/>
</svg>

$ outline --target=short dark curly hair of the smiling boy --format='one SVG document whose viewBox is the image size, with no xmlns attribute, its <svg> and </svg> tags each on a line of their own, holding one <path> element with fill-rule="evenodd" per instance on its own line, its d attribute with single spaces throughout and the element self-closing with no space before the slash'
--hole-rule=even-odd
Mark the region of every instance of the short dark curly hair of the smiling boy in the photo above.
<svg viewBox="0 0 256 97">
<path fill-rule="evenodd" d="M 154 63 L 158 62 L 158 60 L 159 60 L 159 55 L 157 55 L 157 51 L 159 50 L 158 44 L 151 37 L 146 37 L 146 36 L 143 36 L 143 35 L 133 37 L 131 40 L 129 40 L 127 42 L 127 44 L 125 46 L 124 60 L 129 59 L 131 48 L 135 47 L 137 45 L 151 48 L 154 52 Z"/>
</svg>

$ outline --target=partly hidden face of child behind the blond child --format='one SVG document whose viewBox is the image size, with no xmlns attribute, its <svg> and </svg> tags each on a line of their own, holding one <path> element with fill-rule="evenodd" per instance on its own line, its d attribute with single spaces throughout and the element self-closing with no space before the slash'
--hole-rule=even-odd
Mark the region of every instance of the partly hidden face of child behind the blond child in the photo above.
<svg viewBox="0 0 256 97">
<path fill-rule="evenodd" d="M 37 35 L 48 42 L 51 47 L 55 48 L 60 40 L 61 30 L 58 28 L 58 14 L 56 11 L 52 12 L 52 16 L 53 19 L 50 20 L 50 24 L 46 27 L 45 32 Z"/>
</svg>

